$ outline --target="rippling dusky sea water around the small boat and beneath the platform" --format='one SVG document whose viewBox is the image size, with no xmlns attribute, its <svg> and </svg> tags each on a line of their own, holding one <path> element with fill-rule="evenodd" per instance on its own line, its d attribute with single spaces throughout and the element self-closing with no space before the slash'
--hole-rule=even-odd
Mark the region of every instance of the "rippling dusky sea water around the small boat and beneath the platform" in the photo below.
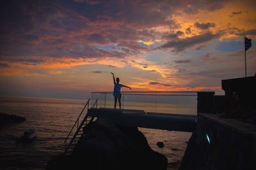
<svg viewBox="0 0 256 170">
<path fill-rule="evenodd" d="M 0 97 L 0 112 L 25 117 L 26 121 L 0 129 L 0 169 L 44 169 L 52 156 L 63 153 L 63 141 L 86 101 Z M 38 130 L 30 144 L 16 144 L 26 129 Z M 179 162 L 191 136 L 188 132 L 170 132 L 140 128 L 153 150 L 163 153 L 168 162 Z M 164 148 L 156 143 L 164 142 Z M 171 169 L 171 168 L 170 168 Z M 175 169 L 175 168 L 174 168 Z M 177 169 L 177 168 L 176 168 Z"/>
</svg>

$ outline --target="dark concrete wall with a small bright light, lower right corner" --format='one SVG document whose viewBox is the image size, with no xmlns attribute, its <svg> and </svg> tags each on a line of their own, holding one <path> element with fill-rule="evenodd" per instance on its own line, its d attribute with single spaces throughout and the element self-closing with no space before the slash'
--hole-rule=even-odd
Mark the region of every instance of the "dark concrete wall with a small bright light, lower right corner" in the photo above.
<svg viewBox="0 0 256 170">
<path fill-rule="evenodd" d="M 256 126 L 198 114 L 180 169 L 256 169 Z"/>
</svg>

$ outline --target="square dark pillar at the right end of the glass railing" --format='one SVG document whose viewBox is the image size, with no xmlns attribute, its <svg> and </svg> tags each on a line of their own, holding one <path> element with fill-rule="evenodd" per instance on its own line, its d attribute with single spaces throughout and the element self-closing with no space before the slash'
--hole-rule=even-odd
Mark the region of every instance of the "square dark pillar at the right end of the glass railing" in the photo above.
<svg viewBox="0 0 256 170">
<path fill-rule="evenodd" d="M 197 92 L 197 113 L 214 113 L 215 92 Z"/>
</svg>

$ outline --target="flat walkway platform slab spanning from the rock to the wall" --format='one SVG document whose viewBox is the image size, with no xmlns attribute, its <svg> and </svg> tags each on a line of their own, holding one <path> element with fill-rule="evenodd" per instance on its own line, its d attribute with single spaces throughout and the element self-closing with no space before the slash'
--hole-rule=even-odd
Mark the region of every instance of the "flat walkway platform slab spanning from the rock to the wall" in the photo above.
<svg viewBox="0 0 256 170">
<path fill-rule="evenodd" d="M 113 110 L 111 108 L 91 108 L 88 114 L 97 118 L 111 118 L 116 124 L 131 127 L 145 127 L 168 131 L 193 132 L 196 116 L 168 113 L 145 113 L 143 110 Z"/>
</svg>

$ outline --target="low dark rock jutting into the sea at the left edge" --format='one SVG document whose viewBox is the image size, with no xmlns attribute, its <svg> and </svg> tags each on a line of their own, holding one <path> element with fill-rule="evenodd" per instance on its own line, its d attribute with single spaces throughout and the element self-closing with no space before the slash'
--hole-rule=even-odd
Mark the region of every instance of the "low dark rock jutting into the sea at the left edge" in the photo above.
<svg viewBox="0 0 256 170">
<path fill-rule="evenodd" d="M 26 118 L 24 118 L 24 117 L 18 117 L 15 115 L 8 115 L 5 113 L 0 113 L 0 127 L 9 125 L 9 124 L 13 124 L 13 123 L 24 122 L 25 120 L 26 120 Z"/>
</svg>

